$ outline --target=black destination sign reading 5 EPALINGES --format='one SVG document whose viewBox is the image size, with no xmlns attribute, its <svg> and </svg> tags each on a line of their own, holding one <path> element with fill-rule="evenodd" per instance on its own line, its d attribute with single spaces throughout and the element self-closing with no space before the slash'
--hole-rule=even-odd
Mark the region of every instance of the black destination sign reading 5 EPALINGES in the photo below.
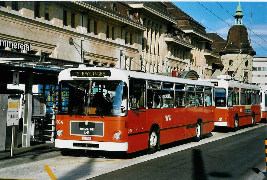
<svg viewBox="0 0 267 180">
<path fill-rule="evenodd" d="M 71 70 L 71 77 L 110 77 L 110 70 Z"/>
</svg>

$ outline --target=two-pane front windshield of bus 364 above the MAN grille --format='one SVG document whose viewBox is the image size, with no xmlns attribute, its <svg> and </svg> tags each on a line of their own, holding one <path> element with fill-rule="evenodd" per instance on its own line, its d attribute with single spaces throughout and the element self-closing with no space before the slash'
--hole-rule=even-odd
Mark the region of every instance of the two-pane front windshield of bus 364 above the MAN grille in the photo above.
<svg viewBox="0 0 267 180">
<path fill-rule="evenodd" d="M 59 114 L 86 115 L 87 108 L 88 115 L 104 117 L 127 114 L 127 86 L 124 82 L 93 80 L 90 85 L 90 81 L 63 81 L 60 86 Z"/>
</svg>

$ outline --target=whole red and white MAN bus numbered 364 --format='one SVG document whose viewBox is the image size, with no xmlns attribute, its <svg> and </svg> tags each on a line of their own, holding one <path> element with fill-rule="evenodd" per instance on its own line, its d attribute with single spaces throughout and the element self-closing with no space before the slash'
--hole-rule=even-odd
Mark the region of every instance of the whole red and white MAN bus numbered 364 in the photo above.
<svg viewBox="0 0 267 180">
<path fill-rule="evenodd" d="M 81 65 L 58 79 L 59 148 L 154 153 L 214 129 L 210 82 Z"/>
</svg>

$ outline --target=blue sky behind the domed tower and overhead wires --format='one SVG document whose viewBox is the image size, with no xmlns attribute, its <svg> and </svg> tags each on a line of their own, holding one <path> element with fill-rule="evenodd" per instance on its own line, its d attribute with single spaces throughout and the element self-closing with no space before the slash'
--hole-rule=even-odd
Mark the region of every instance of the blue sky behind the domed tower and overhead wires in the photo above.
<svg viewBox="0 0 267 180">
<path fill-rule="evenodd" d="M 217 33 L 220 37 L 226 40 L 229 28 L 234 25 L 235 19 L 233 15 L 236 14 L 236 9 L 239 2 L 180 1 L 172 3 L 182 11 L 184 11 L 186 14 L 188 14 L 191 18 L 206 27 L 206 32 Z M 251 31 L 251 46 L 257 53 L 254 57 L 266 57 L 267 2 L 241 1 L 240 3 L 242 14 L 244 15 L 242 18 L 242 24 L 245 25 L 248 29 L 248 37 L 250 34 L 249 29 L 251 29 L 255 33 L 254 34 Z M 252 24 L 250 28 L 251 11 Z M 214 15 L 213 13 L 216 15 Z M 219 18 L 216 16 L 218 16 Z"/>
</svg>

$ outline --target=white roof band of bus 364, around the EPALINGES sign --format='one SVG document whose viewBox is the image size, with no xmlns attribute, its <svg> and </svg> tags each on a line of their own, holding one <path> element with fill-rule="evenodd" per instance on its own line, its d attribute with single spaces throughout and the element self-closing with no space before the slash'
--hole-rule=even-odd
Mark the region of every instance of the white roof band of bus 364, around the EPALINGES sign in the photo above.
<svg viewBox="0 0 267 180">
<path fill-rule="evenodd" d="M 111 73 L 110 77 L 71 77 L 70 72 L 72 70 L 109 70 Z M 115 74 L 115 76 L 114 76 Z M 199 80 L 191 80 L 191 79 L 183 79 L 177 77 L 170 77 L 170 76 L 163 76 L 145 72 L 137 72 L 137 71 L 130 71 L 124 69 L 117 69 L 117 68 L 98 68 L 98 67 L 79 67 L 79 68 L 68 68 L 61 71 L 58 75 L 58 82 L 62 80 L 86 80 L 86 79 L 101 79 L 101 80 L 121 80 L 127 82 L 129 78 L 138 78 L 138 79 L 146 79 L 150 81 L 163 81 L 163 82 L 176 82 L 176 83 L 183 83 L 183 84 L 193 84 L 193 85 L 203 85 L 203 86 L 211 86 L 213 87 L 213 83 L 199 81 Z"/>
</svg>

